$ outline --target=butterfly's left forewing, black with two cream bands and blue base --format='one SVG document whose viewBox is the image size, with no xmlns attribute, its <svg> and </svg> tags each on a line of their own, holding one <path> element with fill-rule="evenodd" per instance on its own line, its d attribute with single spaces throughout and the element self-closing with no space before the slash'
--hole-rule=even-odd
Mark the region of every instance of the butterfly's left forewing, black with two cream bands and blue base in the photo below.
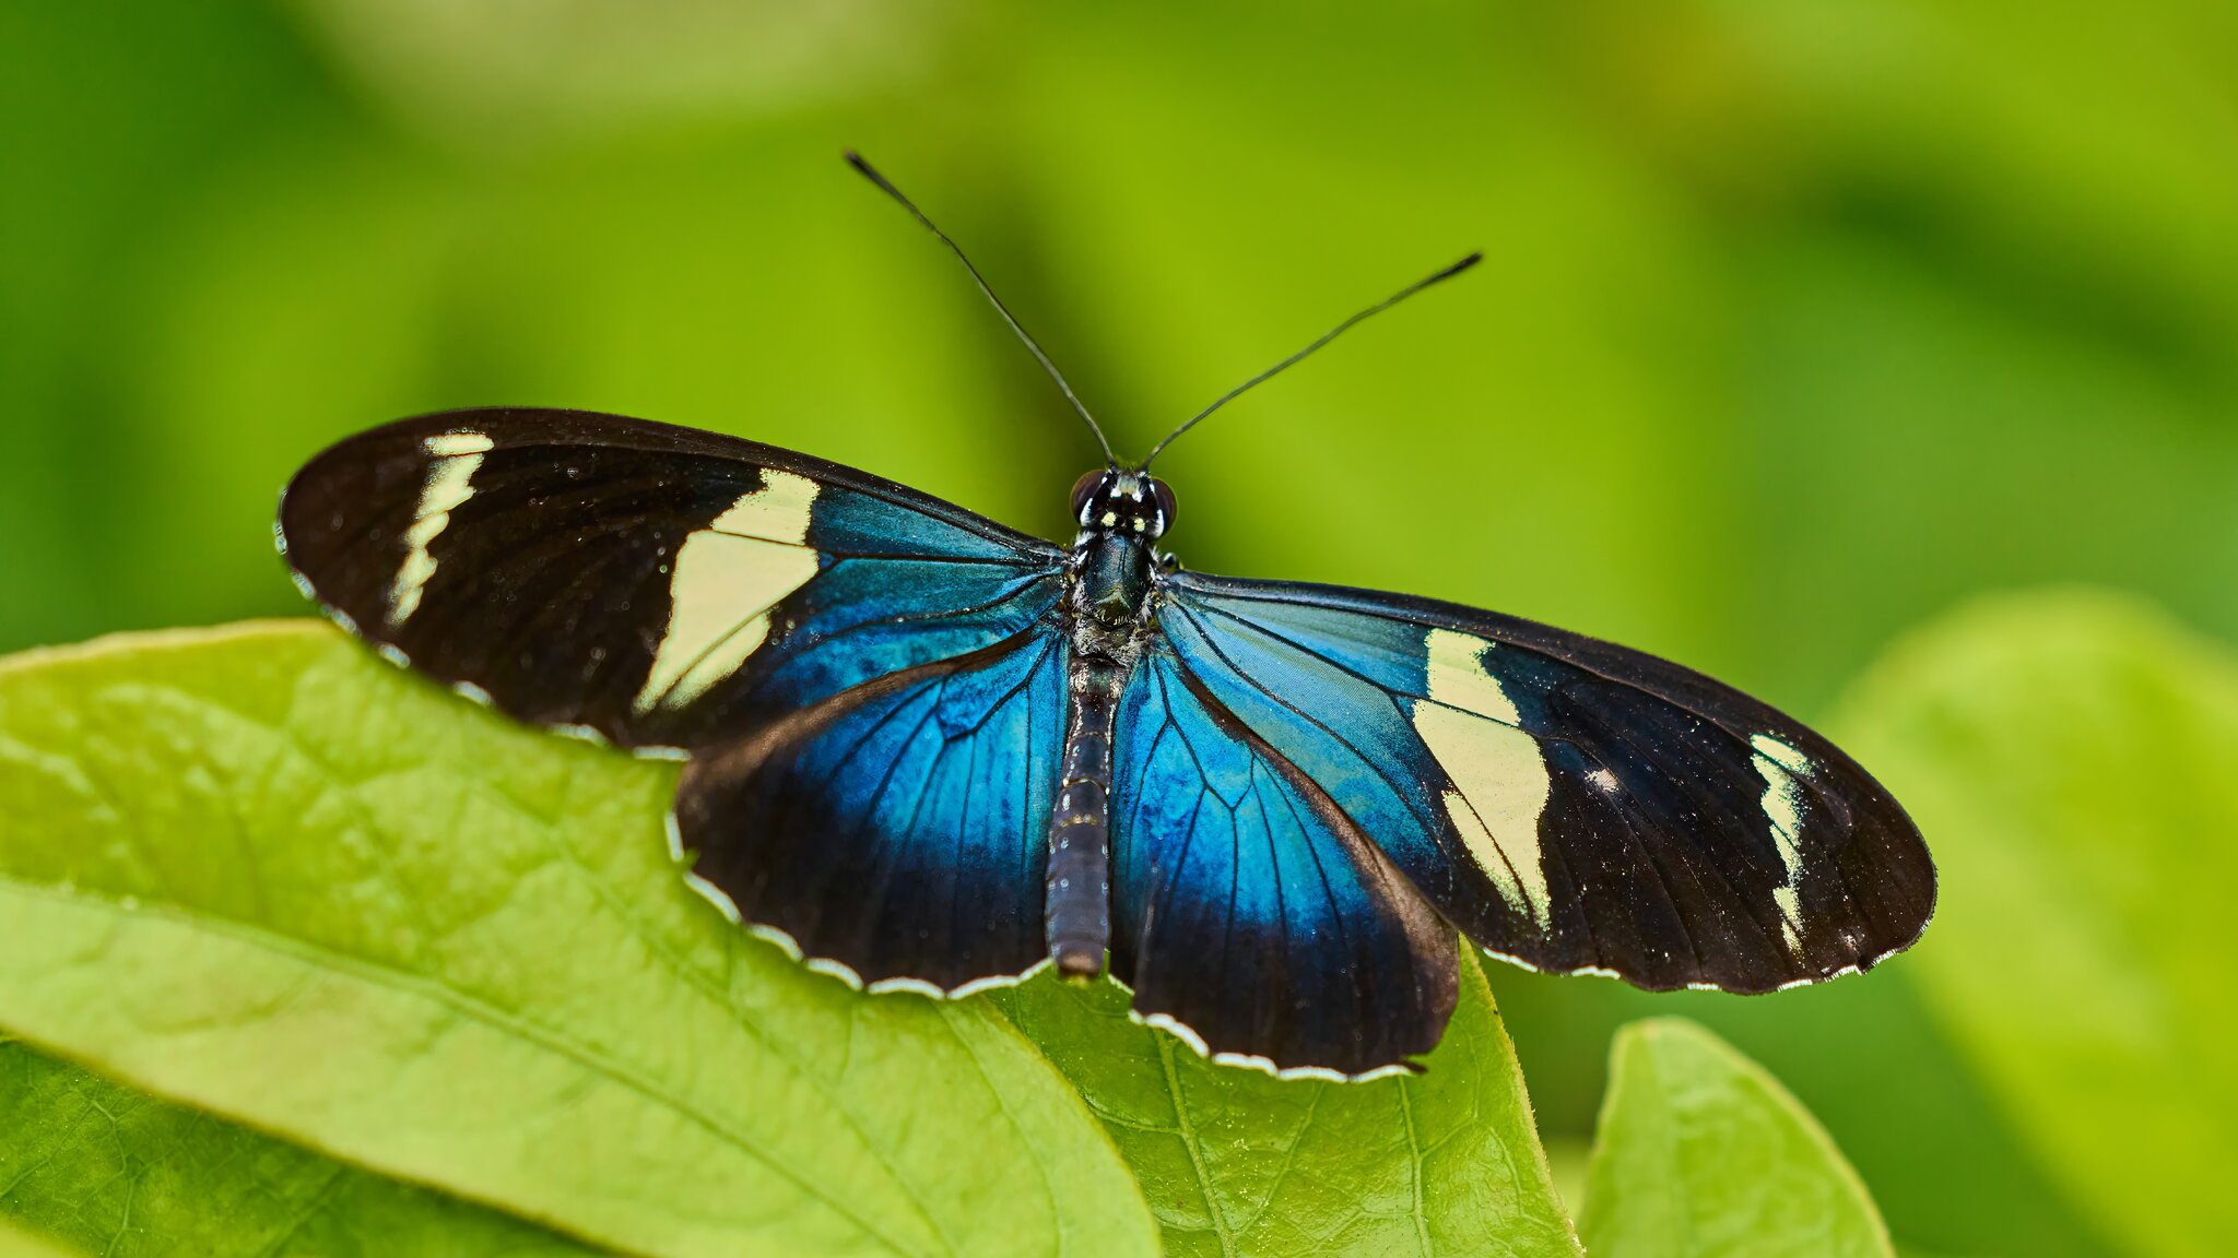
<svg viewBox="0 0 2238 1258">
<path fill-rule="evenodd" d="M 694 748 L 998 642 L 1063 553 L 770 445 L 560 410 L 351 436 L 298 472 L 280 539 L 313 598 L 508 714 Z"/>
</svg>

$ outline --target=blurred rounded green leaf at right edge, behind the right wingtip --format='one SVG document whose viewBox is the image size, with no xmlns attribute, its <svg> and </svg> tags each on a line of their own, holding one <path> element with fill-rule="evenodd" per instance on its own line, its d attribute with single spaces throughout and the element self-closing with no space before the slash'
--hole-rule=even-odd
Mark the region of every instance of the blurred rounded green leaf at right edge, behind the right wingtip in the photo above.
<svg viewBox="0 0 2238 1258">
<path fill-rule="evenodd" d="M 2238 660 L 2126 598 L 1996 598 L 1842 730 L 1934 846 L 1913 976 L 2025 1144 L 2131 1251 L 2227 1254 Z"/>
</svg>

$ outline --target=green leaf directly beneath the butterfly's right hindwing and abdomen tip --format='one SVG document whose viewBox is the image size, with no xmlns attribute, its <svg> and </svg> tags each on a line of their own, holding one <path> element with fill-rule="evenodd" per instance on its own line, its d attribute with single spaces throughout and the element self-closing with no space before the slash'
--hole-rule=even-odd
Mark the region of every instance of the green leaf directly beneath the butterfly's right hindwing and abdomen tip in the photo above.
<svg viewBox="0 0 2238 1258">
<path fill-rule="evenodd" d="M 1103 1119 L 1166 1254 L 1578 1254 L 1473 958 L 1428 1072 L 1367 1083 L 1213 1065 L 1132 1023 L 1110 980 L 996 1001 Z"/>
</svg>

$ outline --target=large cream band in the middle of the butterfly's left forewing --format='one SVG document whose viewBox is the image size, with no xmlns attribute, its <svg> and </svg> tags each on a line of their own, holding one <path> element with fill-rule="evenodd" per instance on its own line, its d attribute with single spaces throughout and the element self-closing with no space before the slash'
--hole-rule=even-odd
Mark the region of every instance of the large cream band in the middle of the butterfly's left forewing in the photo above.
<svg viewBox="0 0 2238 1258">
<path fill-rule="evenodd" d="M 770 640 L 770 609 L 819 569 L 808 546 L 817 488 L 770 468 L 761 488 L 676 548 L 669 625 L 638 689 L 640 714 L 692 703 Z"/>
</svg>

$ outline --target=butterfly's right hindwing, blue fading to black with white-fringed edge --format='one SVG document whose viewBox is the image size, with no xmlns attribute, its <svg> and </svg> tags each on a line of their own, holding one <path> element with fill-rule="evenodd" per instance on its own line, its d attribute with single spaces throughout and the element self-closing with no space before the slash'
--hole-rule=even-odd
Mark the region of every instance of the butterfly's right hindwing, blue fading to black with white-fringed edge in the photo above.
<svg viewBox="0 0 2238 1258">
<path fill-rule="evenodd" d="M 1170 649 L 1119 707 L 1112 969 L 1211 1052 L 1358 1074 L 1428 1052 L 1455 940 L 1329 795 Z"/>
</svg>

